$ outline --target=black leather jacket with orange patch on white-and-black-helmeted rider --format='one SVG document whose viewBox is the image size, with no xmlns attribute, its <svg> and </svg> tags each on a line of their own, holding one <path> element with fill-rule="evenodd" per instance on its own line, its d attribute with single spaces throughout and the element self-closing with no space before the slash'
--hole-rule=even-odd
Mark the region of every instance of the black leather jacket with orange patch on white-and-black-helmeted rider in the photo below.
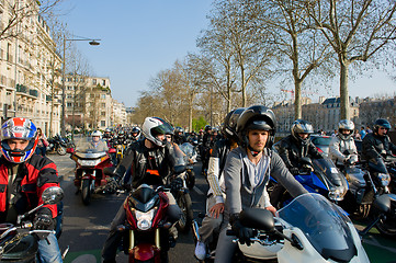
<svg viewBox="0 0 396 263">
<path fill-rule="evenodd" d="M 126 156 L 115 169 L 115 173 L 124 176 L 124 183 L 131 183 L 133 188 L 144 183 L 158 186 L 165 184 L 173 164 L 169 145 L 148 149 L 145 140 L 138 140 L 127 148 Z"/>
</svg>

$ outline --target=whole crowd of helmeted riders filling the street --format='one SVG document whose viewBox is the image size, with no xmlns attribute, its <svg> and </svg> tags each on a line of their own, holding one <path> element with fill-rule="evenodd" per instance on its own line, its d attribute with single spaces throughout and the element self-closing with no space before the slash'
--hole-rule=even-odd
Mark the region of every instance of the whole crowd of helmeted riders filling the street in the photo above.
<svg viewBox="0 0 396 263">
<path fill-rule="evenodd" d="M 304 119 L 296 119 L 291 127 L 291 135 L 276 145 L 276 118 L 273 112 L 262 105 L 236 108 L 229 112 L 220 127 L 206 125 L 197 133 L 185 133 L 182 127 L 172 127 L 159 117 L 147 117 L 142 125 L 95 130 L 91 134 L 92 147 L 108 151 L 116 145 L 124 146 L 124 156 L 116 164 L 115 174 L 123 178 L 126 188 L 133 190 L 142 184 L 165 185 L 166 178 L 172 173 L 171 150 L 189 142 L 201 156 L 202 174 L 206 178 L 210 190 L 206 195 L 206 215 L 200 228 L 195 256 L 205 260 L 208 244 L 217 232 L 217 252 L 215 262 L 230 262 L 236 244 L 233 236 L 226 236 L 233 229 L 242 243 L 250 244 L 253 230 L 242 226 L 239 213 L 246 207 L 261 207 L 275 215 L 274 204 L 279 193 L 287 190 L 293 196 L 307 191 L 295 180 L 302 168 L 302 158 L 325 158 L 310 140 L 313 125 Z M 363 128 L 362 128 L 363 129 Z M 388 132 L 391 123 L 378 118 L 373 130 L 357 130 L 353 122 L 342 119 L 335 130 L 329 146 L 329 158 L 335 163 L 354 164 L 359 161 L 378 162 L 396 155 L 396 146 L 391 142 Z M 360 135 L 357 136 L 357 134 Z M 37 128 L 27 118 L 11 118 L 2 124 L 0 169 L 4 191 L 0 203 L 1 222 L 14 221 L 31 206 L 41 204 L 38 193 L 52 185 L 59 185 L 56 165 L 47 158 L 35 155 Z M 362 151 L 358 153 L 354 140 L 362 139 Z M 105 141 L 105 142 L 103 142 Z M 128 171 L 128 176 L 124 176 Z M 151 173 L 150 171 L 157 171 Z M 267 191 L 269 176 L 276 179 L 278 185 L 271 193 Z M 173 184 L 167 184 L 170 188 Z M 29 187 L 27 187 L 29 186 Z M 174 224 L 181 210 L 174 197 L 167 192 L 170 201 L 168 220 L 172 242 L 176 242 Z M 55 229 L 56 206 L 44 206 L 32 220 L 36 229 Z M 104 262 L 115 262 L 120 244 L 118 225 L 125 221 L 123 206 L 116 214 L 102 256 Z M 235 237 L 234 237 L 235 238 Z M 38 239 L 41 262 L 61 262 L 57 240 L 53 235 Z M 52 242 L 48 242 L 52 240 Z"/>
</svg>

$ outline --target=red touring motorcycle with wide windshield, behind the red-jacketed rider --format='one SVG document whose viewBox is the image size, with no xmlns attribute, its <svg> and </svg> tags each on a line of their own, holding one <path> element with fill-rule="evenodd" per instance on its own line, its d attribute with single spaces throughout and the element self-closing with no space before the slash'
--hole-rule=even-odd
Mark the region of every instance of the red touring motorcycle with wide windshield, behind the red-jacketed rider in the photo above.
<svg viewBox="0 0 396 263">
<path fill-rule="evenodd" d="M 88 138 L 81 138 L 70 158 L 76 162 L 76 194 L 81 193 L 84 205 L 90 204 L 91 194 L 113 194 L 116 192 L 118 187 L 116 180 L 103 172 L 104 168 L 113 165 L 109 155 L 105 151 L 98 152 L 92 149 Z"/>
</svg>

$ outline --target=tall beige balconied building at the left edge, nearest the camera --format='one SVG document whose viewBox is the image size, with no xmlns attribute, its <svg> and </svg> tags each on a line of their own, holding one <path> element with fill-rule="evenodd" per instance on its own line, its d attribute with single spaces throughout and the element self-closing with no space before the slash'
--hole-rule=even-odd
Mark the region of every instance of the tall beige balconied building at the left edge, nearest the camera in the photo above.
<svg viewBox="0 0 396 263">
<path fill-rule="evenodd" d="M 8 25 L 12 10 L 8 1 L 0 1 L 0 32 Z M 47 135 L 59 133 L 60 101 L 54 95 L 60 85 L 55 81 L 61 58 L 49 28 L 38 15 L 37 1 L 19 0 L 29 5 L 30 13 L 0 41 L 0 114 L 31 118 Z"/>
</svg>

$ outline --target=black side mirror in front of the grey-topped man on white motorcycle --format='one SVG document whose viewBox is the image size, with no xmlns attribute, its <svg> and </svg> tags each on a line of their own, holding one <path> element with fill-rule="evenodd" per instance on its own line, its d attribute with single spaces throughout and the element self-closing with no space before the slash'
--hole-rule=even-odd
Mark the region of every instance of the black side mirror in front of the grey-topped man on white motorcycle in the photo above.
<svg viewBox="0 0 396 263">
<path fill-rule="evenodd" d="M 272 213 L 262 208 L 244 209 L 239 215 L 239 220 L 244 226 L 264 231 L 273 231 L 275 229 Z"/>
</svg>

